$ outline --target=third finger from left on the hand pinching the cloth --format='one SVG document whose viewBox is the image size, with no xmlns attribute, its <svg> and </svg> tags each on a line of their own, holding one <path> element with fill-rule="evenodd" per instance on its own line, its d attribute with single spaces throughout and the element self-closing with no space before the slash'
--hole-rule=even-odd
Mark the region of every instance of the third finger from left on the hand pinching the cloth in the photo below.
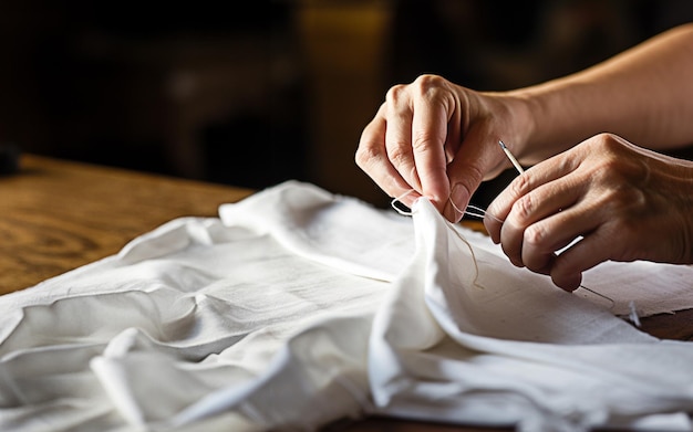
<svg viewBox="0 0 693 432">
<path fill-rule="evenodd" d="M 443 210 L 449 197 L 445 143 L 451 118 L 459 115 L 453 114 L 455 105 L 448 94 L 436 89 L 424 87 L 414 98 L 412 150 L 423 194 Z"/>
</svg>

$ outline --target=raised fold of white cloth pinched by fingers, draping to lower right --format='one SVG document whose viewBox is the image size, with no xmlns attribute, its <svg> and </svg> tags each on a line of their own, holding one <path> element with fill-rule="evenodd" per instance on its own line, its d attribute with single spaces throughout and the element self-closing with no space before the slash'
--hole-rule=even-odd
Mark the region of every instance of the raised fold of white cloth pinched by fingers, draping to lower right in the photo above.
<svg viewBox="0 0 693 432">
<path fill-rule="evenodd" d="M 371 334 L 377 412 L 580 431 L 690 410 L 689 344 L 659 341 L 546 277 L 504 271 L 425 200 L 413 218 L 414 262 Z"/>
</svg>

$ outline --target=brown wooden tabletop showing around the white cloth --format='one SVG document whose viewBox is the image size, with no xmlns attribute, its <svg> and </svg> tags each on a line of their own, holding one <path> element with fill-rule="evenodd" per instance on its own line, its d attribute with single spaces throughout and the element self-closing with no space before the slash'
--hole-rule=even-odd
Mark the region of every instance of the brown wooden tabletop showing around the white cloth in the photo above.
<svg viewBox="0 0 693 432">
<path fill-rule="evenodd" d="M 24 156 L 19 173 L 0 177 L 0 294 L 112 255 L 133 238 L 174 218 L 216 217 L 219 204 L 250 193 L 228 186 Z M 660 338 L 690 340 L 693 310 L 645 318 L 643 329 Z M 391 419 L 329 429 L 500 431 Z"/>
</svg>

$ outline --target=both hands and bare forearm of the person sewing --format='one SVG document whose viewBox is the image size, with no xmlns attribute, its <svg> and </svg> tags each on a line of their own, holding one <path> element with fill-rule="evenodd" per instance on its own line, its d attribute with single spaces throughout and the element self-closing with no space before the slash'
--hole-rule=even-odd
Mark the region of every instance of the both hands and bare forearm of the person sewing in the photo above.
<svg viewBox="0 0 693 432">
<path fill-rule="evenodd" d="M 690 145 L 692 74 L 693 24 L 684 24 L 509 92 L 423 75 L 390 89 L 356 164 L 391 197 L 406 206 L 427 197 L 456 222 L 479 183 L 510 166 L 503 140 L 520 162 L 536 164 L 488 209 L 505 222 L 485 220 L 514 264 L 571 291 L 608 260 L 691 263 L 693 162 L 620 137 L 652 149 Z M 594 136 L 604 130 L 618 136 Z"/>
</svg>

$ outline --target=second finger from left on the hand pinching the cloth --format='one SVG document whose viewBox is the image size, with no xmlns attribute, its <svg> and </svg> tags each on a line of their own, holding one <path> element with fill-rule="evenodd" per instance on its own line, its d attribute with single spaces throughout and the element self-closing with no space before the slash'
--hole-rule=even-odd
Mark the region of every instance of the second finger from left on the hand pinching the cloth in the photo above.
<svg viewBox="0 0 693 432">
<path fill-rule="evenodd" d="M 405 86 L 394 86 L 387 92 L 385 103 L 385 152 L 399 177 L 417 192 L 423 192 L 414 151 L 412 149 L 413 106 Z"/>
</svg>

